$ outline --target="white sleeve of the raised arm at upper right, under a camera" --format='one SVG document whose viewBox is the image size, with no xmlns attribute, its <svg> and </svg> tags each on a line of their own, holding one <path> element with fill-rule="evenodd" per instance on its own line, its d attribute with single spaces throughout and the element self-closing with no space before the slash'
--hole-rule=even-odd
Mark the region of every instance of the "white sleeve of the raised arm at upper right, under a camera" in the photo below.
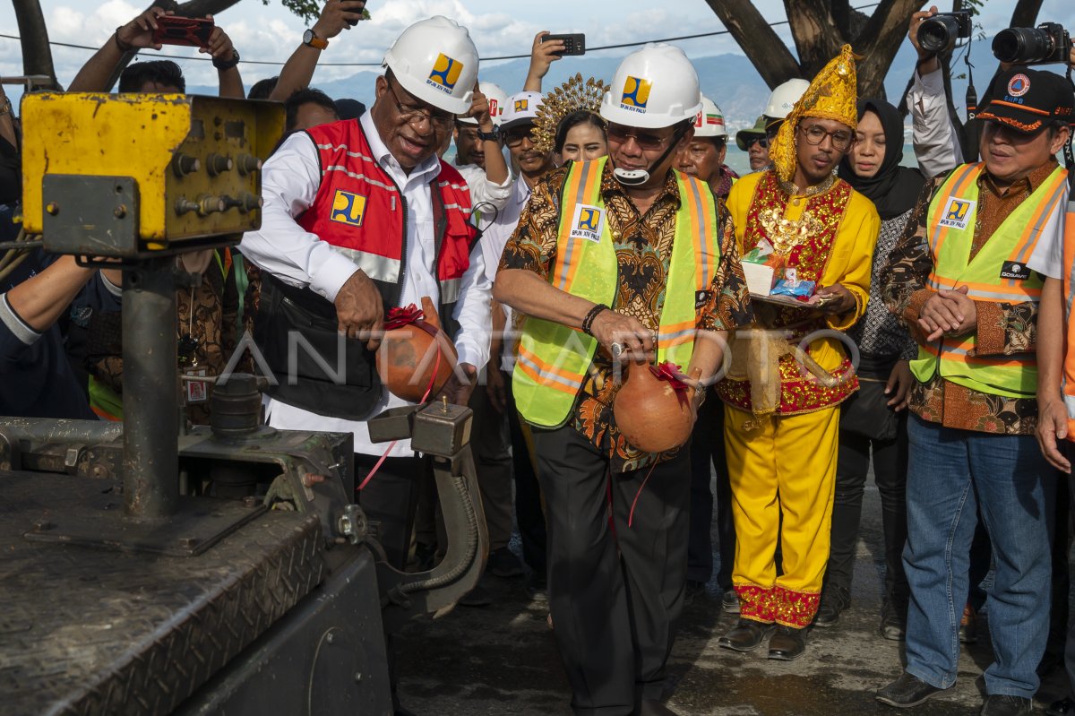
<svg viewBox="0 0 1075 716">
<path fill-rule="evenodd" d="M 922 174 L 933 177 L 963 163 L 959 134 L 948 116 L 941 70 L 924 75 L 916 71 L 907 102 L 911 104 L 915 157 Z"/>
</svg>

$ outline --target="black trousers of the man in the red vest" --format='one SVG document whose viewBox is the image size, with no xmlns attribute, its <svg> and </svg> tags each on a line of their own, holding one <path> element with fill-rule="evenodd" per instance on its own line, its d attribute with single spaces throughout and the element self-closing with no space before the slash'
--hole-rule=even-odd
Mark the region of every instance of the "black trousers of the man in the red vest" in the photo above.
<svg viewBox="0 0 1075 716">
<path fill-rule="evenodd" d="M 376 455 L 355 454 L 355 487 L 362 484 L 378 459 Z M 428 469 L 420 457 L 385 458 L 373 479 L 356 493 L 355 501 L 362 506 L 367 518 L 379 522 L 378 541 L 388 563 L 398 570 L 406 567 L 411 553 L 418 484 Z"/>
</svg>

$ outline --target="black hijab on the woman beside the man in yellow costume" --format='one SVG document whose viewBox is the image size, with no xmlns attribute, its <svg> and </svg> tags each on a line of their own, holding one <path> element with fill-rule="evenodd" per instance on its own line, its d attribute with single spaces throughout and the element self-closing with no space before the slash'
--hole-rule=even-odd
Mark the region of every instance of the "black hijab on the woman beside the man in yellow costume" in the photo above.
<svg viewBox="0 0 1075 716">
<path fill-rule="evenodd" d="M 840 178 L 873 201 L 884 221 L 915 207 L 926 178 L 917 169 L 900 166 L 903 160 L 903 117 L 900 111 L 883 99 L 859 100 L 858 111 L 860 121 L 868 111 L 880 119 L 885 130 L 885 158 L 876 174 L 862 177 L 855 173 L 848 153 L 840 162 Z"/>
</svg>

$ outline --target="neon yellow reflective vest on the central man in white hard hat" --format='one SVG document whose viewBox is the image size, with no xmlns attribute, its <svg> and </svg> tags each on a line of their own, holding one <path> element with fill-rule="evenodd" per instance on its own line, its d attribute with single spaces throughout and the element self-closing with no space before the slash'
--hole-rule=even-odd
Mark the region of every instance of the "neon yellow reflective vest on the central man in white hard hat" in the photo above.
<svg viewBox="0 0 1075 716">
<path fill-rule="evenodd" d="M 613 305 L 619 266 L 601 196 L 606 161 L 607 157 L 574 162 L 564 178 L 549 283 L 572 296 Z M 696 291 L 708 290 L 713 282 L 720 262 L 720 237 L 713 192 L 679 172 L 676 178 L 679 210 L 657 334 L 657 360 L 670 360 L 686 370 L 694 348 Z M 563 425 L 597 347 L 597 339 L 582 330 L 527 317 L 512 377 L 522 417 L 542 427 Z"/>
</svg>

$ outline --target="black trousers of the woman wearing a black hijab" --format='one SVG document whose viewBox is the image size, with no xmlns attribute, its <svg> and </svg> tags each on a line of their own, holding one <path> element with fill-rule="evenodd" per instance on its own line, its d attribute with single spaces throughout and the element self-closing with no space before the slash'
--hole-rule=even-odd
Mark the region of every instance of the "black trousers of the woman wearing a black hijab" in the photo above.
<svg viewBox="0 0 1075 716">
<path fill-rule="evenodd" d="M 836 488 L 832 504 L 832 543 L 826 587 L 850 593 L 855 571 L 855 546 L 862 521 L 862 493 L 873 456 L 874 482 L 880 492 L 882 529 L 885 534 L 885 600 L 905 603 L 907 577 L 903 571 L 903 546 L 907 541 L 907 413 L 903 411 L 897 438 L 871 440 L 840 431 Z"/>
</svg>

